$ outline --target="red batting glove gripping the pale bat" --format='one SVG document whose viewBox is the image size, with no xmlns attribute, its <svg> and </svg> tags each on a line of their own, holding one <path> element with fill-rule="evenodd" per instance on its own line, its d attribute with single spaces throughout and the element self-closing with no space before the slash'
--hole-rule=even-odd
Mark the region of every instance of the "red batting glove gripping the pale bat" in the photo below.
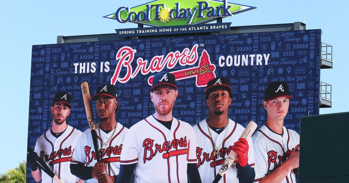
<svg viewBox="0 0 349 183">
<path fill-rule="evenodd" d="M 240 166 L 245 167 L 248 161 L 248 143 L 244 138 L 239 138 L 239 141 L 234 143 L 232 151 L 238 154 L 238 163 Z"/>
</svg>

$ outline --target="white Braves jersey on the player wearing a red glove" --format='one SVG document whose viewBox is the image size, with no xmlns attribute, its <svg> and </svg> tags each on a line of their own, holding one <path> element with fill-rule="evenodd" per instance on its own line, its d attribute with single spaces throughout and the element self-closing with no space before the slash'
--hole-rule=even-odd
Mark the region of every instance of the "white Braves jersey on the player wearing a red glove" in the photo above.
<svg viewBox="0 0 349 183">
<path fill-rule="evenodd" d="M 228 157 L 228 154 L 232 150 L 232 146 L 235 142 L 237 142 L 245 130 L 245 128 L 229 119 L 229 124 L 227 128 L 222 131 L 220 134 L 217 134 L 212 129 L 209 129 L 211 132 L 210 137 L 207 130 L 206 119 L 200 121 L 198 124 L 193 126 L 196 139 L 197 139 L 197 148 L 196 148 L 196 156 L 198 158 L 198 168 L 202 182 L 212 182 L 216 175 L 218 174 L 220 168 L 222 167 L 225 158 Z M 226 131 L 227 130 L 227 131 Z M 226 133 L 227 132 L 227 133 Z M 225 136 L 225 134 L 227 134 Z M 217 147 L 220 147 L 220 152 L 218 158 L 217 155 L 213 155 L 213 146 L 211 140 L 214 141 Z M 248 141 L 248 165 L 250 167 L 254 167 L 254 151 L 252 139 Z M 220 146 L 222 144 L 222 146 Z M 238 170 L 236 168 L 236 161 L 233 165 L 228 169 L 227 173 L 221 178 L 220 183 L 225 182 L 239 182 L 239 178 L 237 176 Z"/>
</svg>

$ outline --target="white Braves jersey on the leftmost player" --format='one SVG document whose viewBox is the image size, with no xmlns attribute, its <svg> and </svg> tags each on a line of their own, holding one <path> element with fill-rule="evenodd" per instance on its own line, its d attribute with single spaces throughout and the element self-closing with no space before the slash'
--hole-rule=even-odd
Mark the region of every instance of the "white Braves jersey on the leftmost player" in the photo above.
<svg viewBox="0 0 349 183">
<path fill-rule="evenodd" d="M 81 134 L 81 131 L 68 125 L 65 132 L 58 138 L 54 137 L 49 129 L 36 141 L 34 151 L 64 183 L 76 183 L 80 180 L 70 173 L 70 161 L 77 138 Z M 55 182 L 44 171 L 41 174 L 42 182 Z"/>
</svg>

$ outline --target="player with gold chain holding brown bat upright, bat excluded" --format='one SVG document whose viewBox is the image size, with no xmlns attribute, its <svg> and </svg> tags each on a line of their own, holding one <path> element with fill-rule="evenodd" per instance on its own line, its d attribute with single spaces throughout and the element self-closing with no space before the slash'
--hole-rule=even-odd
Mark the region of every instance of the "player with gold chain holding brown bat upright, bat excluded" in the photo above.
<svg viewBox="0 0 349 183">
<path fill-rule="evenodd" d="M 115 118 L 119 104 L 114 85 L 99 86 L 92 100 L 96 101 L 100 119 L 96 124 L 98 151 L 94 148 L 91 130 L 84 131 L 77 141 L 73 160 L 70 162 L 70 171 L 87 183 L 113 183 L 117 181 L 119 174 L 122 141 L 127 128 Z M 96 152 L 99 153 L 101 162 L 97 162 Z"/>
</svg>

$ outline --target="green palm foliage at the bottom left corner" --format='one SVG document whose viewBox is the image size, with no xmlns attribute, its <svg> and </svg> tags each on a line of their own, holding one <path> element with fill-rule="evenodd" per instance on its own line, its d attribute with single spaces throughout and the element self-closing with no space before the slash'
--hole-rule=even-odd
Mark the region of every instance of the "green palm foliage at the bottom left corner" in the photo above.
<svg viewBox="0 0 349 183">
<path fill-rule="evenodd" d="M 5 173 L 0 174 L 1 183 L 23 183 L 26 178 L 27 163 L 21 162 L 16 168 L 10 168 Z"/>
</svg>

